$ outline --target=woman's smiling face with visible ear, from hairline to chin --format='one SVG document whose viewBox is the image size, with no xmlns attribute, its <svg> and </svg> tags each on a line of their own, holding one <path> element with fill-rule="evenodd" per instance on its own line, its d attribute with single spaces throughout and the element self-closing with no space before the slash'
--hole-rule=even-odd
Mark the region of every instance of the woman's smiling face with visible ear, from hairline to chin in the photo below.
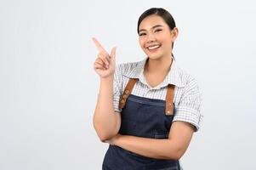
<svg viewBox="0 0 256 170">
<path fill-rule="evenodd" d="M 178 36 L 178 29 L 173 31 L 162 17 L 149 15 L 139 25 L 139 45 L 150 59 L 170 57 L 172 43 Z"/>
</svg>

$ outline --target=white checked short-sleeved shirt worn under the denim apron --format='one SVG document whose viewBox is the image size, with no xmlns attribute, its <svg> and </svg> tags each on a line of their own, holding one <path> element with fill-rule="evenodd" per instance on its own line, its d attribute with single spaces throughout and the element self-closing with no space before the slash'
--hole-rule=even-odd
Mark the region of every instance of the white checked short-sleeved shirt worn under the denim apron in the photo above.
<svg viewBox="0 0 256 170">
<path fill-rule="evenodd" d="M 181 70 L 173 59 L 171 69 L 167 77 L 154 88 L 146 82 L 144 76 L 144 67 L 147 58 L 139 62 L 123 63 L 117 65 L 114 77 L 114 109 L 121 112 L 118 108 L 119 99 L 128 84 L 129 78 L 138 78 L 131 94 L 149 98 L 166 99 L 168 84 L 174 84 L 174 120 L 189 122 L 195 127 L 195 132 L 199 129 L 202 122 L 200 113 L 202 94 L 199 91 L 198 84 L 194 77 Z"/>
</svg>

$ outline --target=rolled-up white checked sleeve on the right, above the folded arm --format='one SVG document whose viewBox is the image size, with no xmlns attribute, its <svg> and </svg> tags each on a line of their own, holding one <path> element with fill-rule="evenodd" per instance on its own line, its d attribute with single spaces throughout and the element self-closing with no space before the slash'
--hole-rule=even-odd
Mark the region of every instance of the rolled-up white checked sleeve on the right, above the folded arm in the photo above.
<svg viewBox="0 0 256 170">
<path fill-rule="evenodd" d="M 202 122 L 201 114 L 202 94 L 199 90 L 196 79 L 190 77 L 189 82 L 184 88 L 184 93 L 175 106 L 174 121 L 189 122 L 198 131 Z"/>
</svg>

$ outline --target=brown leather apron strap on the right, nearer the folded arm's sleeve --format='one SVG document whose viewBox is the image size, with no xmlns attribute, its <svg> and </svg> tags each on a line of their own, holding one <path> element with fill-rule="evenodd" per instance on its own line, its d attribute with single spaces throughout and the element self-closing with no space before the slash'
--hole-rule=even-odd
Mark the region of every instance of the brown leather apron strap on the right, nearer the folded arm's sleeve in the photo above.
<svg viewBox="0 0 256 170">
<path fill-rule="evenodd" d="M 174 84 L 168 84 L 166 98 L 165 98 L 165 114 L 174 115 Z"/>
</svg>

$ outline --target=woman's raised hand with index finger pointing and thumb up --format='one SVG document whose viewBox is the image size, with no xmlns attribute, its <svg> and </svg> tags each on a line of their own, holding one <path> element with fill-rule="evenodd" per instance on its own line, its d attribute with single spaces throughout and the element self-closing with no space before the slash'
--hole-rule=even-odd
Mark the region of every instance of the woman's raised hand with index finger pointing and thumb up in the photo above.
<svg viewBox="0 0 256 170">
<path fill-rule="evenodd" d="M 97 59 L 94 62 L 94 71 L 101 77 L 111 77 L 116 70 L 116 48 L 111 49 L 111 55 L 101 46 L 100 42 L 93 37 L 94 44 L 99 50 Z"/>
</svg>

